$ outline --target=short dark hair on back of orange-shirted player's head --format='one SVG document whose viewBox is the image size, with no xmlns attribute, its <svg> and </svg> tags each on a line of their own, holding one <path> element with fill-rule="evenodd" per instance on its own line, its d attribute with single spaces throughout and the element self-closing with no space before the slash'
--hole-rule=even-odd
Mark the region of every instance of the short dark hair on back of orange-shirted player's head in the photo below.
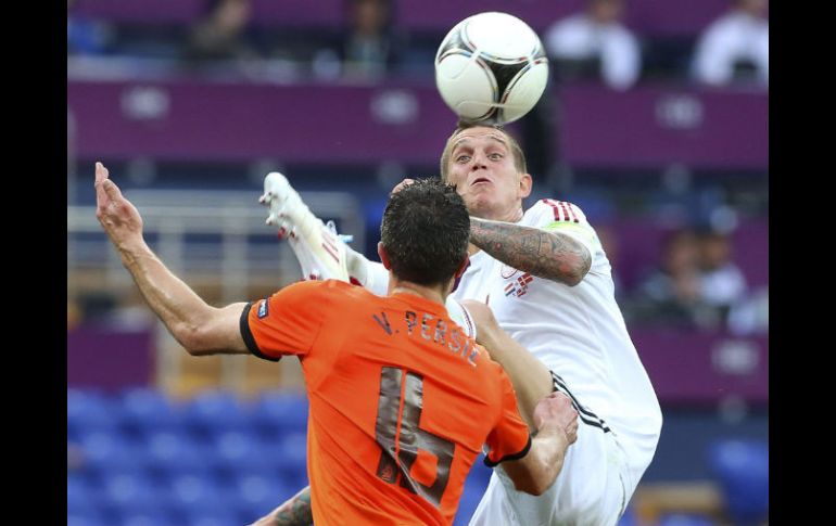
<svg viewBox="0 0 836 526">
<path fill-rule="evenodd" d="M 448 282 L 467 257 L 469 239 L 470 216 L 455 187 L 418 179 L 389 196 L 380 241 L 398 279 Z"/>
</svg>

